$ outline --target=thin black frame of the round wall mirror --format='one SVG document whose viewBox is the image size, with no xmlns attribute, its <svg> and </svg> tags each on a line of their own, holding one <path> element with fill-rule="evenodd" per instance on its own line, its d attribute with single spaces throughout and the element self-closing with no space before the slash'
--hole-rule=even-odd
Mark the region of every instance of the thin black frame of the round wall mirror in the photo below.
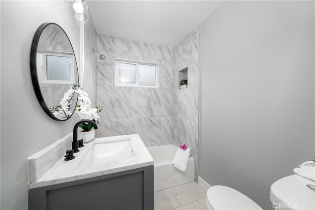
<svg viewBox="0 0 315 210">
<path fill-rule="evenodd" d="M 61 28 L 58 24 L 56 23 L 43 23 L 42 25 L 40 25 L 38 27 L 38 29 L 36 30 L 35 32 L 35 35 L 33 37 L 33 41 L 32 41 L 32 47 L 31 47 L 31 56 L 30 56 L 30 67 L 31 67 L 31 78 L 32 78 L 32 85 L 33 85 L 33 89 L 35 91 L 35 94 L 36 94 L 36 97 L 37 97 L 37 100 L 40 104 L 40 106 L 43 108 L 43 110 L 45 111 L 45 113 L 50 117 L 52 118 L 53 120 L 57 120 L 57 121 L 65 121 L 65 120 L 69 120 L 71 118 L 71 116 L 73 115 L 74 112 L 72 112 L 71 116 L 65 120 L 61 120 L 61 119 L 58 119 L 56 118 L 50 111 L 49 111 L 49 108 L 47 107 L 47 104 L 43 98 L 43 95 L 41 93 L 41 90 L 40 90 L 40 87 L 39 87 L 39 83 L 38 83 L 38 77 L 37 77 L 37 66 L 36 66 L 36 54 L 37 54 L 37 47 L 38 47 L 38 42 L 39 42 L 39 38 L 40 38 L 40 35 L 41 33 L 43 32 L 43 30 L 49 26 L 49 25 L 56 25 L 58 26 L 61 30 L 63 30 L 63 28 Z M 73 55 L 74 55 L 74 59 L 75 59 L 75 62 L 77 62 L 76 60 L 76 57 L 75 57 L 75 53 L 74 53 L 74 50 L 73 50 L 73 47 L 72 47 L 72 44 L 70 42 L 70 39 L 68 37 L 68 35 L 66 34 L 66 32 L 63 30 L 65 36 L 68 38 L 69 40 L 69 43 L 71 45 L 71 48 L 72 48 L 72 51 L 73 51 Z M 77 74 L 78 74 L 78 84 L 80 84 L 80 78 L 79 78 L 79 72 L 78 72 L 78 64 L 76 63 L 76 66 L 77 66 Z M 78 99 L 77 101 L 75 102 L 75 104 L 77 104 L 78 102 Z"/>
</svg>

